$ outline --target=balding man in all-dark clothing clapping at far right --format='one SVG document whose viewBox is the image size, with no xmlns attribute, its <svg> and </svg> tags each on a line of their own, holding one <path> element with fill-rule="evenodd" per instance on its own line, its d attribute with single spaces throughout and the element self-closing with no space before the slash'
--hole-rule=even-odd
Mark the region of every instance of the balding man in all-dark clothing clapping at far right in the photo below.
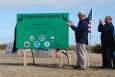
<svg viewBox="0 0 115 77">
<path fill-rule="evenodd" d="M 114 26 L 112 24 L 112 17 L 105 17 L 105 24 L 102 20 L 99 21 L 98 31 L 101 32 L 101 44 L 102 44 L 102 60 L 103 68 L 112 67 L 112 52 L 113 52 L 113 33 Z"/>
</svg>

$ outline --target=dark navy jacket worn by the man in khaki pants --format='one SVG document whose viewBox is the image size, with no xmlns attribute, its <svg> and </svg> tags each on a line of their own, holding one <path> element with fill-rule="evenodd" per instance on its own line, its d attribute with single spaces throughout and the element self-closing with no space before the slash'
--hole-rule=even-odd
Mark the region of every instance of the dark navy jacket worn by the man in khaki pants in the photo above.
<svg viewBox="0 0 115 77">
<path fill-rule="evenodd" d="M 78 26 L 71 26 L 75 31 L 76 43 L 88 44 L 88 24 L 89 19 L 86 18 L 78 23 Z"/>
</svg>

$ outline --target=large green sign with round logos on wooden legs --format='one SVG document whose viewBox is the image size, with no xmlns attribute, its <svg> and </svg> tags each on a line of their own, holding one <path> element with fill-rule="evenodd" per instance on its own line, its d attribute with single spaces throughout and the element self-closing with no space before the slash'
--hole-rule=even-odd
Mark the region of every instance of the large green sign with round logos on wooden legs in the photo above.
<svg viewBox="0 0 115 77">
<path fill-rule="evenodd" d="M 16 48 L 68 48 L 68 13 L 17 14 Z"/>
</svg>

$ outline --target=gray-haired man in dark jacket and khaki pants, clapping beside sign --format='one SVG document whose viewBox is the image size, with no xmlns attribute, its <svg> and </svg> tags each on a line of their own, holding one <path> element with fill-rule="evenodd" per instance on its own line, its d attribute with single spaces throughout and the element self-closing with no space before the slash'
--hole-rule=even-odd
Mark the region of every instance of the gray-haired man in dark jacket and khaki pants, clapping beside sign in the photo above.
<svg viewBox="0 0 115 77">
<path fill-rule="evenodd" d="M 74 26 L 71 21 L 69 21 L 68 25 L 75 31 L 75 39 L 76 39 L 76 54 L 77 54 L 77 65 L 74 67 L 80 69 L 87 68 L 87 51 L 86 45 L 88 44 L 88 24 L 89 19 L 85 18 L 84 12 L 79 12 L 78 14 L 79 23 L 78 26 Z"/>
</svg>

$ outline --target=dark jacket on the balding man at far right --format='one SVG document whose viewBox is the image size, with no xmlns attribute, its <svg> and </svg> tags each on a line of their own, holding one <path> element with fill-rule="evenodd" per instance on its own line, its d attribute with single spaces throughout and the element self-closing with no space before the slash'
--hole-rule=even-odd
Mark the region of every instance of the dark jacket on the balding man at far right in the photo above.
<svg viewBox="0 0 115 77">
<path fill-rule="evenodd" d="M 98 31 L 101 32 L 101 44 L 103 47 L 113 47 L 114 26 L 110 24 L 99 24 Z"/>
</svg>

